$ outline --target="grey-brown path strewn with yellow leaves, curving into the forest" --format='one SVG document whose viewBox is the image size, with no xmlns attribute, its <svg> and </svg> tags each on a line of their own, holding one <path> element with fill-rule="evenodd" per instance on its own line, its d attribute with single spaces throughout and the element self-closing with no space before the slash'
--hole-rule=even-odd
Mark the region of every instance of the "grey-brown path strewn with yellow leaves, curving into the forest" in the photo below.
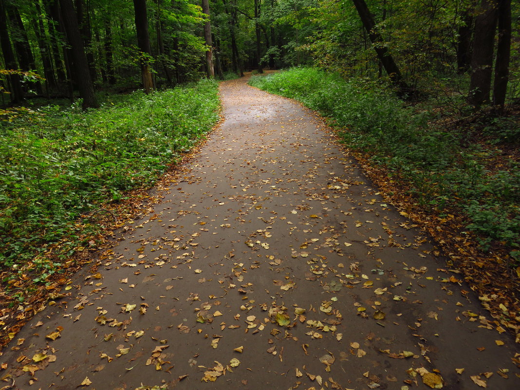
<svg viewBox="0 0 520 390">
<path fill-rule="evenodd" d="M 244 80 L 222 98 L 225 122 L 188 173 L 22 329 L 0 377 L 358 390 L 440 374 L 447 389 L 520 388 L 512 337 L 318 119 Z"/>
</svg>

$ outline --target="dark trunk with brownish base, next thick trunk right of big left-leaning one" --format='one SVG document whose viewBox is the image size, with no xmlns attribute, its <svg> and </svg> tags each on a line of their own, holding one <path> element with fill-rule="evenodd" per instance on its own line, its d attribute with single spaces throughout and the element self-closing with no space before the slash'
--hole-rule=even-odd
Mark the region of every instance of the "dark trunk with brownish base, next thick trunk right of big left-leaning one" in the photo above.
<svg viewBox="0 0 520 390">
<path fill-rule="evenodd" d="M 142 87 L 148 94 L 154 88 L 150 64 L 147 56 L 151 56 L 150 35 L 148 34 L 148 14 L 146 10 L 146 0 L 134 0 L 135 28 L 137 32 L 137 46 L 141 51 L 141 77 Z"/>
</svg>

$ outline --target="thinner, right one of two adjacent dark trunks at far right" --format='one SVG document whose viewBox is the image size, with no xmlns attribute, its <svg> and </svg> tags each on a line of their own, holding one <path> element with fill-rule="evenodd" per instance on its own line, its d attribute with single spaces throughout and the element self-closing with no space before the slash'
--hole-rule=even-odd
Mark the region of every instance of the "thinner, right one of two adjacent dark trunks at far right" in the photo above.
<svg viewBox="0 0 520 390">
<path fill-rule="evenodd" d="M 500 0 L 498 9 L 498 45 L 493 84 L 493 106 L 498 114 L 504 111 L 508 90 L 509 58 L 511 53 L 511 0 Z"/>
</svg>

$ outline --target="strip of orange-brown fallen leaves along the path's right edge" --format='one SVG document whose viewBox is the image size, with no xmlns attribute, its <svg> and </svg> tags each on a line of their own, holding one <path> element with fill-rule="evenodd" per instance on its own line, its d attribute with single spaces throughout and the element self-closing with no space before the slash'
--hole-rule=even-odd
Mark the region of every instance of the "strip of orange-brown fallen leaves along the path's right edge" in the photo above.
<svg viewBox="0 0 520 390">
<path fill-rule="evenodd" d="M 314 115 L 324 122 L 319 114 Z M 335 129 L 328 126 L 326 128 L 341 142 Z M 380 188 L 380 194 L 386 203 L 393 204 L 402 216 L 411 219 L 431 236 L 438 249 L 448 258 L 446 266 L 451 272 L 463 276 L 482 306 L 493 317 L 497 330 L 508 330 L 516 336 L 516 342 L 520 343 L 520 279 L 515 270 L 503 261 L 508 256 L 508 250 L 498 248 L 493 252 L 483 252 L 479 249 L 476 236 L 464 230 L 465 219 L 460 211 L 444 210 L 447 216 L 434 214 L 431 209 L 420 206 L 409 195 L 406 181 L 394 171 L 394 176 L 390 179 L 386 167 L 374 165 L 368 153 L 351 151 L 350 154 Z"/>
</svg>

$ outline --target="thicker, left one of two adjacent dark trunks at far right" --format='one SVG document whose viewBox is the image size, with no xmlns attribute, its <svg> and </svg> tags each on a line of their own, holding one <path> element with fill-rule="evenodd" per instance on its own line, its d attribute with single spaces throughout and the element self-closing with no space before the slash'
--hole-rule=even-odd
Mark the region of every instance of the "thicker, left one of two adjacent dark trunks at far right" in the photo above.
<svg viewBox="0 0 520 390">
<path fill-rule="evenodd" d="M 489 103 L 497 16 L 497 1 L 481 0 L 475 19 L 470 93 L 467 97 L 476 108 Z"/>
</svg>

